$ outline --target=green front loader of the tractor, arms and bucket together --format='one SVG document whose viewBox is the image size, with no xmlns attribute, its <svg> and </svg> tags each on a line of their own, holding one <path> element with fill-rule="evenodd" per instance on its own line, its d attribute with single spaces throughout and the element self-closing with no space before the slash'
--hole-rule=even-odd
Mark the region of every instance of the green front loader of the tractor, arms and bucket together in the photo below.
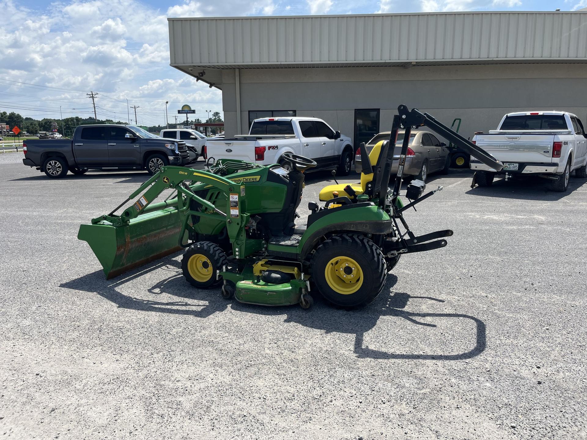
<svg viewBox="0 0 587 440">
<path fill-rule="evenodd" d="M 223 192 L 226 211 L 195 194 L 190 184 L 196 183 Z M 175 197 L 154 202 L 166 189 L 177 191 Z M 192 216 L 224 223 L 234 254 L 242 255 L 251 243 L 245 233 L 249 215 L 239 189 L 239 184 L 212 172 L 163 167 L 110 214 L 92 219 L 91 225 L 81 225 L 77 238 L 89 243 L 108 278 L 189 246 L 186 236 L 194 236 Z M 114 214 L 133 199 L 136 201 L 122 214 Z M 203 209 L 194 211 L 191 201 Z"/>
</svg>

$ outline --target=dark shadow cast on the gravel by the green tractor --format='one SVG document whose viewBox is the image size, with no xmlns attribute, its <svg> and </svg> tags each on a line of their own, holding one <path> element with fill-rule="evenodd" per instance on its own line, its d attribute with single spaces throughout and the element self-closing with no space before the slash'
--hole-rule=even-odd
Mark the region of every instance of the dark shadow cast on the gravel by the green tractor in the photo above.
<svg viewBox="0 0 587 440">
<path fill-rule="evenodd" d="M 177 256 L 176 254 L 174 256 Z M 172 256 L 173 258 L 173 256 Z M 167 276 L 160 282 L 149 287 L 149 295 L 143 297 L 134 297 L 127 293 L 122 293 L 130 287 L 134 289 L 137 283 L 141 285 L 140 277 L 147 275 L 153 270 L 165 272 Z M 159 275 L 159 273 L 157 274 Z M 429 312 L 409 312 L 405 310 L 410 300 L 425 300 L 437 304 L 444 303 L 444 300 L 430 296 L 411 296 L 405 292 L 394 292 L 393 286 L 397 282 L 397 277 L 390 274 L 387 277 L 387 284 L 384 291 L 375 302 L 369 306 L 358 310 L 337 310 L 328 306 L 321 296 L 314 294 L 315 304 L 311 310 L 302 310 L 299 306 L 288 307 L 264 307 L 252 304 L 242 304 L 234 298 L 225 300 L 220 296 L 220 289 L 201 290 L 195 289 L 188 285 L 181 274 L 180 262 L 173 259 L 166 259 L 164 262 L 158 262 L 140 268 L 126 275 L 119 276 L 112 280 L 104 279 L 102 270 L 84 275 L 77 279 L 63 283 L 60 287 L 66 289 L 79 290 L 82 292 L 96 293 L 104 299 L 116 304 L 118 307 L 130 310 L 140 310 L 141 312 L 171 313 L 177 315 L 193 316 L 197 318 L 206 318 L 216 312 L 222 312 L 229 306 L 233 310 L 242 313 L 254 313 L 265 316 L 282 316 L 285 315 L 284 322 L 297 323 L 309 329 L 322 330 L 325 333 L 343 333 L 355 336 L 353 343 L 353 352 L 360 358 L 374 359 L 406 359 L 406 360 L 463 360 L 478 356 L 485 350 L 485 324 L 480 319 L 467 314 L 460 313 L 429 313 Z M 163 300 L 162 297 L 176 297 L 176 300 Z M 197 304 L 194 304 L 198 302 Z M 474 346 L 463 353 L 445 354 L 445 353 L 389 353 L 387 351 L 370 348 L 365 343 L 365 334 L 375 328 L 381 317 L 395 317 L 406 320 L 412 324 L 414 331 L 411 331 L 411 337 L 414 339 L 413 344 L 409 346 L 421 346 L 431 337 L 438 337 L 442 334 L 437 325 L 430 323 L 435 319 L 446 320 L 470 320 L 473 322 L 473 335 L 458 335 L 455 340 L 474 339 Z M 386 321 L 389 323 L 389 321 Z M 392 323 L 400 324 L 399 321 L 393 320 Z M 451 327 L 454 331 L 456 327 Z M 419 331 L 416 331 L 419 330 Z M 424 333 L 421 333 L 424 331 Z M 446 327 L 444 327 L 446 331 Z M 393 344 L 394 339 L 389 343 Z M 383 343 L 384 344 L 384 343 Z M 450 350 L 450 344 L 438 344 L 439 347 L 447 347 Z"/>
</svg>

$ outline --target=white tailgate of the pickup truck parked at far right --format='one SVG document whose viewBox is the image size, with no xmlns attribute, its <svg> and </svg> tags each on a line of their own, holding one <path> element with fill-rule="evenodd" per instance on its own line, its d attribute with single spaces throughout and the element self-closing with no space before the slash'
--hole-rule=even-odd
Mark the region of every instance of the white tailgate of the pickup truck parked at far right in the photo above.
<svg viewBox="0 0 587 440">
<path fill-rule="evenodd" d="M 552 163 L 554 134 L 478 134 L 478 147 L 502 162 Z"/>
</svg>

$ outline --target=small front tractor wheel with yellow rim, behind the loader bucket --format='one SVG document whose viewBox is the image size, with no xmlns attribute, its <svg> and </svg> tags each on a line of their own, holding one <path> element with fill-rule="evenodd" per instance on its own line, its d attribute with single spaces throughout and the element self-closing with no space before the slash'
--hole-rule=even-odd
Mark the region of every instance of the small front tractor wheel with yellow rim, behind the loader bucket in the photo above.
<svg viewBox="0 0 587 440">
<path fill-rule="evenodd" d="M 199 289 L 210 289 L 222 284 L 216 271 L 228 264 L 227 256 L 216 243 L 200 241 L 186 249 L 181 259 L 181 270 L 188 283 Z"/>
</svg>

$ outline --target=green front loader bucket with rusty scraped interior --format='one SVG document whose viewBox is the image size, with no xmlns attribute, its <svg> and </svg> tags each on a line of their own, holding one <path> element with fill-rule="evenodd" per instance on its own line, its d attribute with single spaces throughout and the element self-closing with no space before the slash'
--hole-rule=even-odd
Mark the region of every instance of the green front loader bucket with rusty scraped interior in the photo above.
<svg viewBox="0 0 587 440">
<path fill-rule="evenodd" d="M 158 209 L 122 226 L 106 221 L 81 225 L 77 238 L 90 245 L 110 279 L 179 251 L 184 218 L 185 214 L 175 207 Z"/>
</svg>

